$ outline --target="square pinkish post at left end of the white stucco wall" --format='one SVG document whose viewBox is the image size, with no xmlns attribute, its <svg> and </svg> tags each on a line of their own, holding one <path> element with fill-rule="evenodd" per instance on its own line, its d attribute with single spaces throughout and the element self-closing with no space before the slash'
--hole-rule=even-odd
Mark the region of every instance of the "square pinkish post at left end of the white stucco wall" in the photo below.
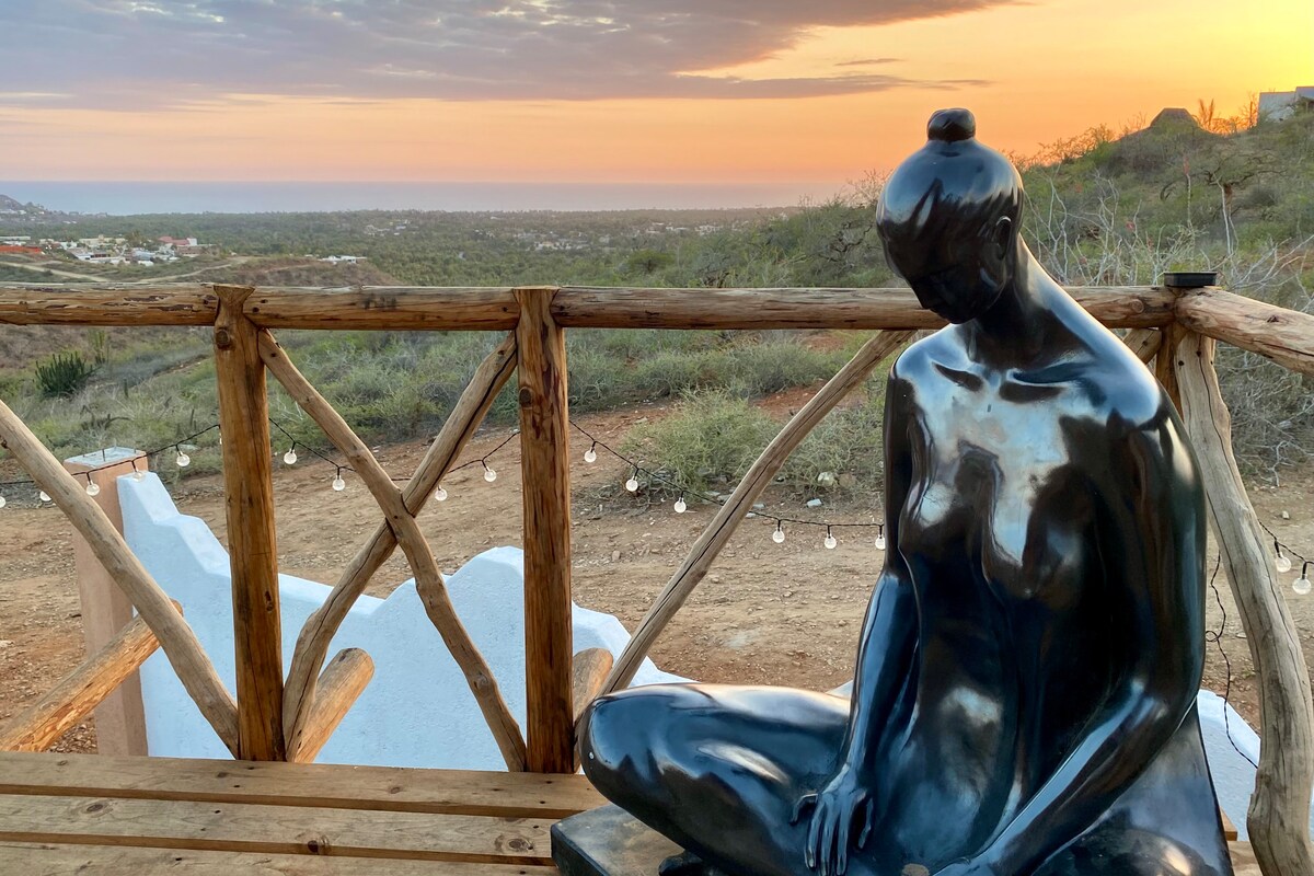
<svg viewBox="0 0 1314 876">
<path fill-rule="evenodd" d="M 112 447 L 85 456 L 64 460 L 64 469 L 79 478 L 89 478 L 100 487 L 93 496 L 114 529 L 124 533 L 124 514 L 118 507 L 118 477 L 150 469 L 150 458 L 138 450 Z M 74 531 L 74 563 L 78 569 L 78 599 L 81 604 L 83 638 L 87 654 L 99 654 L 133 623 L 133 600 L 127 598 L 104 563 L 96 558 L 91 544 Z M 96 751 L 124 755 L 146 754 L 146 708 L 142 705 L 142 682 L 131 672 L 96 705 Z"/>
</svg>

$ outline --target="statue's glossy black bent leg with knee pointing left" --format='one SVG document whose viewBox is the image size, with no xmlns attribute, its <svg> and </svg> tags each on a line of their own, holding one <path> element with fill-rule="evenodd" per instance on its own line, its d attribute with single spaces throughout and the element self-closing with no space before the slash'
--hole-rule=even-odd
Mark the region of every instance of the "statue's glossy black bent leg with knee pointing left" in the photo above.
<svg viewBox="0 0 1314 876">
<path fill-rule="evenodd" d="M 599 699 L 579 728 L 593 784 L 729 873 L 809 873 L 800 796 L 832 775 L 849 701 L 788 688 L 662 684 Z M 853 872 L 859 868 L 851 868 Z"/>
</svg>

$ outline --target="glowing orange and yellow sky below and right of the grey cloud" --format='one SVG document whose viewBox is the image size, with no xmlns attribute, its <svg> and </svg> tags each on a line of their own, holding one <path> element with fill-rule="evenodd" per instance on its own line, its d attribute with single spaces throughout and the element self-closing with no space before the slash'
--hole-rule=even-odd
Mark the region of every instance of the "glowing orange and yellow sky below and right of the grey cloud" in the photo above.
<svg viewBox="0 0 1314 876">
<path fill-rule="evenodd" d="M 28 180 L 798 180 L 838 189 L 920 144 L 941 106 L 971 108 L 984 142 L 1020 154 L 1164 106 L 1213 100 L 1231 114 L 1255 92 L 1314 81 L 1314 7 L 1280 0 L 1242 14 L 1222 0 L 997 5 L 811 28 L 770 56 L 687 75 L 732 81 L 731 91 L 740 81 L 865 76 L 871 89 L 591 100 L 247 91 L 139 109 L 0 92 L 0 143 L 7 175 Z"/>
</svg>

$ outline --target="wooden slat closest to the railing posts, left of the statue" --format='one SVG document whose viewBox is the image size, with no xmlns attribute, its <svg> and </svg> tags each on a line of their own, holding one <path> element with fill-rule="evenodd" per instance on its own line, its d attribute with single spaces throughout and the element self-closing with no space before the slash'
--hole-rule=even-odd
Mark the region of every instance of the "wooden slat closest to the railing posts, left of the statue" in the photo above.
<svg viewBox="0 0 1314 876">
<path fill-rule="evenodd" d="M 0 795 L 565 818 L 606 800 L 583 776 L 0 753 Z"/>
</svg>

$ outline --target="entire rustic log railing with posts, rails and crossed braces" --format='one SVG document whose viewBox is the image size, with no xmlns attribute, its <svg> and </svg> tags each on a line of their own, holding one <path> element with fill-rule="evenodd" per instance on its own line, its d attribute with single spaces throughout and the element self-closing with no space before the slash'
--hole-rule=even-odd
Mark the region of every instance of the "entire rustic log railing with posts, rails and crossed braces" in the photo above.
<svg viewBox="0 0 1314 876">
<path fill-rule="evenodd" d="M 1106 326 L 1131 330 L 1127 345 L 1181 408 L 1202 464 L 1223 563 L 1261 688 L 1263 756 L 1250 831 L 1265 873 L 1314 872 L 1306 826 L 1314 784 L 1314 707 L 1297 632 L 1268 561 L 1267 538 L 1231 452 L 1227 408 L 1213 368 L 1214 343 L 1234 344 L 1314 374 L 1314 317 L 1215 288 L 1070 290 Z M 201 712 L 237 756 L 309 760 L 372 672 L 368 655 L 344 651 L 325 665 L 328 642 L 369 578 L 399 545 L 426 612 L 461 666 L 510 770 L 569 772 L 574 717 L 598 691 L 625 686 L 653 641 L 698 586 L 754 499 L 790 452 L 911 332 L 943 322 L 907 289 L 632 289 L 43 286 L 0 288 L 0 324 L 213 326 L 227 532 L 233 565 L 237 699 L 223 688 L 191 628 L 80 486 L 0 403 L 0 444 L 50 494 L 131 598 Z M 402 489 L 351 427 L 301 374 L 272 330 L 505 331 L 442 432 Z M 610 674 L 597 654 L 574 666 L 570 630 L 570 485 L 565 332 L 570 328 L 882 330 L 800 410 L 752 466 L 696 540 L 635 630 Z M 448 599 L 415 516 L 478 428 L 512 372 L 519 380 L 526 562 L 527 737 Z M 315 420 L 380 506 L 325 604 L 306 621 L 283 676 L 265 374 Z M 135 649 L 135 654 L 139 653 Z M 145 659 L 145 658 L 142 658 Z M 112 661 L 113 662 L 113 661 Z M 88 666 L 95 665 L 95 659 Z M 79 674 L 100 672 L 85 666 Z M 108 672 L 108 670 L 106 670 Z M 121 672 L 120 672 L 121 674 Z M 574 678 L 574 683 L 573 679 Z M 104 687 L 104 686 L 101 686 Z M 85 704 L 87 686 L 57 699 Z M 76 692 L 71 692 L 76 691 Z M 93 705 L 95 703 L 92 703 Z M 79 708 L 83 708 L 79 705 Z M 53 738 L 62 709 L 45 707 L 0 728 L 0 746 Z M 21 726 L 18 726 L 21 725 Z"/>
</svg>

